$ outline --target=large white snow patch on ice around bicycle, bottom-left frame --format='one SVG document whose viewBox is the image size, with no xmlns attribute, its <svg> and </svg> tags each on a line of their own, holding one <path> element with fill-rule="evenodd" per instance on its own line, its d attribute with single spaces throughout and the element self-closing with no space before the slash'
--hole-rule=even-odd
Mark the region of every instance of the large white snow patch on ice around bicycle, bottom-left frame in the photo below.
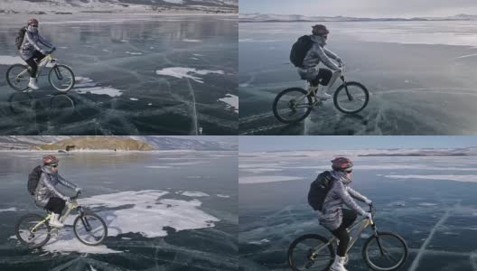
<svg viewBox="0 0 477 271">
<path fill-rule="evenodd" d="M 214 227 L 219 219 L 199 210 L 201 201 L 182 201 L 164 199 L 169 192 L 145 190 L 102 194 L 79 199 L 79 204 L 97 212 L 108 225 L 108 236 L 115 237 L 127 232 L 139 233 L 146 238 L 164 237 L 164 227 L 177 231 L 184 229 L 202 229 Z M 67 221 L 72 225 L 74 216 Z M 79 243 L 72 231 L 63 230 L 56 240 L 43 247 L 51 252 L 79 253 L 119 253 L 121 251 L 107 248 L 85 246 Z"/>
</svg>

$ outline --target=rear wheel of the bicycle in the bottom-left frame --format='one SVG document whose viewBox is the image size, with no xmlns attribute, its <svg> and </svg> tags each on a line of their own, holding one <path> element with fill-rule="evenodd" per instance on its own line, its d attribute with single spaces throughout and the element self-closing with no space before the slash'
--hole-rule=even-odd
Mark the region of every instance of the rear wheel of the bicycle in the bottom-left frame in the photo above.
<svg viewBox="0 0 477 271">
<path fill-rule="evenodd" d="M 15 226 L 16 238 L 25 246 L 40 248 L 50 239 L 50 225 L 42 223 L 44 218 L 38 214 L 27 214 Z"/>
</svg>

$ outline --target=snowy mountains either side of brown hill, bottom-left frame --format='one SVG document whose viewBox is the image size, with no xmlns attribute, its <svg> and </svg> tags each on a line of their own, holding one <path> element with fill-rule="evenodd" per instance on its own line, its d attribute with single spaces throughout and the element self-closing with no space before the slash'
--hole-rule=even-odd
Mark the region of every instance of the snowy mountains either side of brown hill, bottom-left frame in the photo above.
<svg viewBox="0 0 477 271">
<path fill-rule="evenodd" d="M 0 136 L 0 150 L 28 150 L 34 145 L 44 145 L 56 143 L 61 140 L 77 138 L 84 136 L 23 136 L 23 135 L 5 135 Z M 97 137 L 97 136 L 94 136 Z M 237 151 L 238 145 L 227 141 L 209 141 L 202 140 L 201 136 L 191 139 L 163 137 L 154 135 L 145 136 L 113 136 L 116 138 L 131 138 L 138 141 L 144 141 L 151 145 L 154 150 L 197 150 L 197 151 Z M 99 137 L 100 138 L 100 137 Z"/>
</svg>

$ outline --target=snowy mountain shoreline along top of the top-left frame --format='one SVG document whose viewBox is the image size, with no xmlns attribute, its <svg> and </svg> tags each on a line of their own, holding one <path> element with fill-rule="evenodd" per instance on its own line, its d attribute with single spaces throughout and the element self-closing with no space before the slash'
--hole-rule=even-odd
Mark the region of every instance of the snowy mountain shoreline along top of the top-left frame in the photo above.
<svg viewBox="0 0 477 271">
<path fill-rule="evenodd" d="M 2 0 L 0 14 L 238 13 L 239 0 Z"/>
</svg>

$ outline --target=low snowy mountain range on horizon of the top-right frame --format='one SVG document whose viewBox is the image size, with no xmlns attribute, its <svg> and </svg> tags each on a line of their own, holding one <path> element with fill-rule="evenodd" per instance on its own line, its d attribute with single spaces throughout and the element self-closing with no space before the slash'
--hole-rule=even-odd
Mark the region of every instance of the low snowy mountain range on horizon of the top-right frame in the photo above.
<svg viewBox="0 0 477 271">
<path fill-rule="evenodd" d="M 281 14 L 239 14 L 240 23 L 274 23 L 274 22 L 389 22 L 389 21 L 473 21 L 477 15 L 457 14 L 449 17 L 414 17 L 414 18 L 360 18 L 344 16 L 304 16 Z"/>
</svg>

